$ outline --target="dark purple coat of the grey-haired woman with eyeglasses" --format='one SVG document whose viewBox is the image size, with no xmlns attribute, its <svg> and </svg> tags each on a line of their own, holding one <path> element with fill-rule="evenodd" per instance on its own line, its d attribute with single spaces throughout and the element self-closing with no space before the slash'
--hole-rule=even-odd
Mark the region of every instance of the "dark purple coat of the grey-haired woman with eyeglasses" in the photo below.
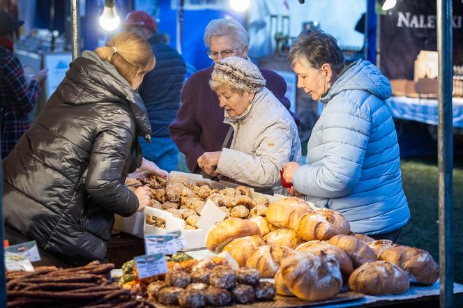
<svg viewBox="0 0 463 308">
<path fill-rule="evenodd" d="M 215 92 L 209 86 L 214 66 L 195 72 L 188 78 L 181 91 L 182 105 L 169 125 L 170 137 L 185 154 L 188 169 L 198 171 L 197 159 L 204 152 L 221 151 L 230 125 L 223 123 L 224 111 L 219 106 Z M 287 86 L 283 77 L 272 70 L 259 68 L 266 79 L 266 88 L 289 109 L 290 102 L 284 97 Z M 292 114 L 300 125 L 296 115 Z M 232 140 L 232 138 L 230 138 Z"/>
</svg>

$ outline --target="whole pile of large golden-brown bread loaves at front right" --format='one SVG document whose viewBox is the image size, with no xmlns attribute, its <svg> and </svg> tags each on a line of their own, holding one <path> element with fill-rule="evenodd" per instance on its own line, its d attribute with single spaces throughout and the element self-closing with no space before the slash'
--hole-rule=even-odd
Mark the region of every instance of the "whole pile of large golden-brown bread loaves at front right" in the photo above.
<svg viewBox="0 0 463 308">
<path fill-rule="evenodd" d="M 403 293 L 410 282 L 434 284 L 439 277 L 429 253 L 353 233 L 342 214 L 294 197 L 271 203 L 264 216 L 218 223 L 206 247 L 224 249 L 241 266 L 274 278 L 278 294 L 310 301 L 333 298 L 343 282 L 351 291 L 384 295 Z"/>
</svg>

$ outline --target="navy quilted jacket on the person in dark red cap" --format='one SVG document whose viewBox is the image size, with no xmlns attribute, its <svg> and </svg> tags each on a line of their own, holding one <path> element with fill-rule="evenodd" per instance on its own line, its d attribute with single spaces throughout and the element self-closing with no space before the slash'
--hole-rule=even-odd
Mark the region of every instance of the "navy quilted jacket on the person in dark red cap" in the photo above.
<svg viewBox="0 0 463 308">
<path fill-rule="evenodd" d="M 158 36 L 148 40 L 156 58 L 156 65 L 145 75 L 139 94 L 142 96 L 151 123 L 151 136 L 169 137 L 169 124 L 180 107 L 180 91 L 185 78 L 185 61 L 170 45 Z"/>
</svg>

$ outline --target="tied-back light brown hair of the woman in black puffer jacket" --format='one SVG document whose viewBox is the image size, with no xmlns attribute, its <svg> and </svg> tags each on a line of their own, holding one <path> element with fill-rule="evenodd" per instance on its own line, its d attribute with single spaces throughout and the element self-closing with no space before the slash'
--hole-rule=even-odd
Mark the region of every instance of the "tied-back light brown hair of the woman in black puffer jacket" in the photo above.
<svg viewBox="0 0 463 308">
<path fill-rule="evenodd" d="M 99 47 L 95 52 L 100 59 L 111 63 L 130 84 L 153 70 L 155 65 L 151 46 L 133 32 L 117 33 L 105 47 Z"/>
</svg>

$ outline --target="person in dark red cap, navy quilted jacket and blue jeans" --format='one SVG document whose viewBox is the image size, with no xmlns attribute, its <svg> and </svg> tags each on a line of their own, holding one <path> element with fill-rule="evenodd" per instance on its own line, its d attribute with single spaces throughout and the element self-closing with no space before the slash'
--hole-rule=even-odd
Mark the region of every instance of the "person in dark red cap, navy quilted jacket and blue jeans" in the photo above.
<svg viewBox="0 0 463 308">
<path fill-rule="evenodd" d="M 179 149 L 169 137 L 169 124 L 180 107 L 180 92 L 185 77 L 185 61 L 170 45 L 162 43 L 158 24 L 141 10 L 128 13 L 124 22 L 127 31 L 133 31 L 147 40 L 153 49 L 155 67 L 147 73 L 138 88 L 151 123 L 151 143 L 139 138 L 143 156 L 161 169 L 176 168 Z"/>
</svg>

